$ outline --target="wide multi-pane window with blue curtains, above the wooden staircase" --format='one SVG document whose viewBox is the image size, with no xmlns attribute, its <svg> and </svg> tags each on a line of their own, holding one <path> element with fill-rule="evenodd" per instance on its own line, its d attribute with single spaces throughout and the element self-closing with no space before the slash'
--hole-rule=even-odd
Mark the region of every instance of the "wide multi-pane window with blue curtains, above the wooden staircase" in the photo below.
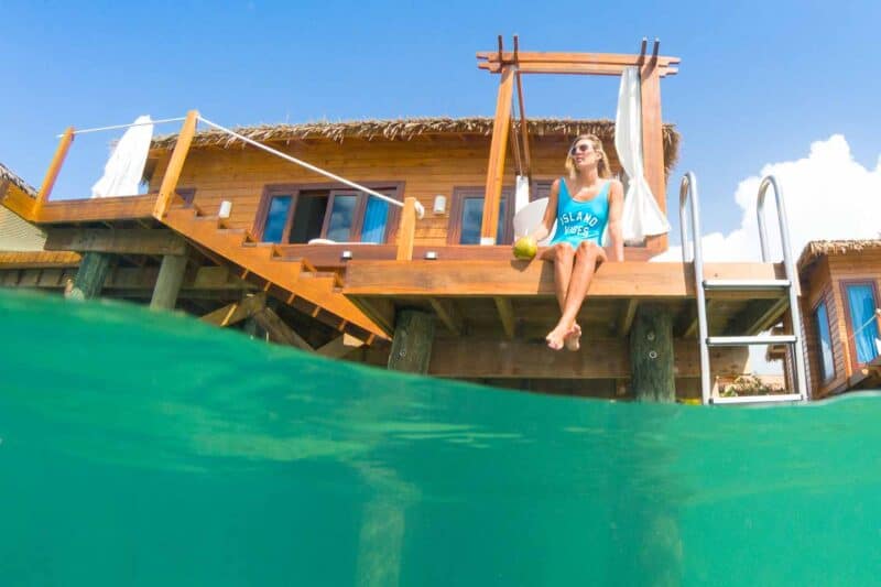
<svg viewBox="0 0 881 587">
<path fill-rule="evenodd" d="M 389 184 L 387 184 L 389 185 Z M 401 185 L 372 188 L 400 199 Z M 264 242 L 388 242 L 396 228 L 398 206 L 356 189 L 314 186 L 267 188 L 254 232 Z"/>
</svg>

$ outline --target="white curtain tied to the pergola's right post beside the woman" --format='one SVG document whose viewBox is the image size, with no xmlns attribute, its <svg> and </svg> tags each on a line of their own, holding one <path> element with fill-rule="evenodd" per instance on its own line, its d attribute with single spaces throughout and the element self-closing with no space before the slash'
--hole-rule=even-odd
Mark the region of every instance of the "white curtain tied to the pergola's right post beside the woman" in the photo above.
<svg viewBox="0 0 881 587">
<path fill-rule="evenodd" d="M 670 222 L 657 206 L 645 181 L 642 161 L 642 118 L 640 72 L 626 67 L 618 90 L 618 112 L 614 117 L 614 149 L 629 178 L 621 218 L 624 242 L 642 243 L 645 237 L 670 232 Z"/>
</svg>

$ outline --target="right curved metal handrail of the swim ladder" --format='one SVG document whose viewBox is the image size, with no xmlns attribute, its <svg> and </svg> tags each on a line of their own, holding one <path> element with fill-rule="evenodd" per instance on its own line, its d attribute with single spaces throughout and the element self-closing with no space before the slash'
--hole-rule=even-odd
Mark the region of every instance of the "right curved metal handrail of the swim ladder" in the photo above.
<svg viewBox="0 0 881 587">
<path fill-rule="evenodd" d="M 780 225 L 781 246 L 783 248 L 783 267 L 786 271 L 786 279 L 790 280 L 788 296 L 790 296 L 790 314 L 792 316 L 792 329 L 796 333 L 795 348 L 795 385 L 796 391 L 802 394 L 805 400 L 808 399 L 809 391 L 807 382 L 805 381 L 805 357 L 802 351 L 802 336 L 797 330 L 802 327 L 802 313 L 798 309 L 798 295 L 801 294 L 798 273 L 795 270 L 795 263 L 792 258 L 792 246 L 790 243 L 788 221 L 786 218 L 786 205 L 783 199 L 783 191 L 780 188 L 777 180 L 773 175 L 765 175 L 762 177 L 762 183 L 759 185 L 759 200 L 755 206 L 755 214 L 759 216 L 759 242 L 762 249 L 762 262 L 769 263 L 768 252 L 768 231 L 764 226 L 764 199 L 768 188 L 774 188 L 774 200 L 777 208 L 777 222 Z"/>
</svg>

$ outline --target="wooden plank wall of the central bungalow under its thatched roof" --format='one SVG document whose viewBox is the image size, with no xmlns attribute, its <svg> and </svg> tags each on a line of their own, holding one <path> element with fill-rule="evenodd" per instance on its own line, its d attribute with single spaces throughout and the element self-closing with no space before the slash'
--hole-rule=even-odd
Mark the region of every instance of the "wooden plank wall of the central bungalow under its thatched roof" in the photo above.
<svg viewBox="0 0 881 587">
<path fill-rule="evenodd" d="M 403 182 L 403 195 L 415 196 L 425 206 L 425 218 L 416 222 L 417 246 L 446 244 L 449 210 L 456 187 L 483 186 L 490 138 L 472 135 L 417 137 L 410 141 L 346 139 L 296 141 L 275 144 L 279 150 L 331 173 L 359 183 Z M 564 171 L 568 138 L 539 137 L 532 140 L 533 180 L 553 180 Z M 611 145 L 607 148 L 612 170 L 620 169 Z M 159 188 L 168 154 L 157 162 L 151 189 Z M 513 186 L 515 162 L 509 149 L 505 185 Z M 191 150 L 178 183 L 195 188 L 195 203 L 214 211 L 220 202 L 232 202 L 230 226 L 251 229 L 267 185 L 329 184 L 325 177 L 255 149 Z M 320 187 L 319 187 L 320 188 Z M 447 198 L 444 215 L 433 215 L 435 195 Z"/>
</svg>

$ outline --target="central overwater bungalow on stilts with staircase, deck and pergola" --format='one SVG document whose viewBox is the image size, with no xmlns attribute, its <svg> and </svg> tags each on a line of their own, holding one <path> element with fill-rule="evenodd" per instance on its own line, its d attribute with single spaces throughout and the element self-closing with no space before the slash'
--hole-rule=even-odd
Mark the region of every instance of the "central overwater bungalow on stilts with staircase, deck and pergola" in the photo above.
<svg viewBox="0 0 881 587">
<path fill-rule="evenodd" d="M 699 247 L 682 262 L 650 262 L 667 250 L 665 233 L 631 240 L 623 262 L 600 265 L 578 316 L 580 351 L 545 346 L 558 317 L 553 268 L 513 259 L 515 216 L 543 202 L 580 133 L 602 141 L 626 185 L 639 173 L 666 214 L 679 137 L 662 122 L 661 79 L 677 63 L 656 43 L 621 55 L 511 52 L 500 42 L 478 53 L 478 66 L 499 76 L 493 118 L 231 131 L 194 110 L 178 133 L 150 143 L 148 188 L 138 195 L 51 198 L 85 132 L 69 128 L 41 188 L 7 180 L 0 202 L 45 232 L 46 251 L 81 260 L 52 268 L 51 278 L 23 265 L 12 276 L 0 264 L 3 284 L 140 300 L 327 357 L 507 388 L 705 403 L 806 399 L 798 334 L 758 336 L 791 311 L 800 322 L 793 263 L 704 264 Z M 637 139 L 628 156 L 638 166 L 622 164 L 613 121 L 527 118 L 523 79 L 537 74 L 629 75 Z M 621 116 L 619 108 L 619 124 Z M 681 194 L 682 218 L 699 237 L 693 176 Z M 748 371 L 753 344 L 791 352 L 790 391 L 718 396 L 713 378 Z"/>
</svg>

